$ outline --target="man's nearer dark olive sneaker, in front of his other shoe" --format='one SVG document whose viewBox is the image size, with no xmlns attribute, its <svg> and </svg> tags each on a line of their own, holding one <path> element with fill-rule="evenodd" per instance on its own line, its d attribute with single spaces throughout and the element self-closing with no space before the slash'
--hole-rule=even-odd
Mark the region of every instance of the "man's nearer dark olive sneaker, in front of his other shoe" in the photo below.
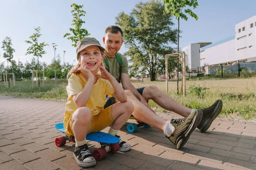
<svg viewBox="0 0 256 170">
<path fill-rule="evenodd" d="M 166 136 L 173 144 L 176 145 L 177 149 L 180 150 L 191 133 L 195 130 L 198 124 L 201 122 L 203 112 L 201 110 L 195 110 L 188 117 L 183 119 L 172 119 L 171 124 L 175 128 L 171 136 Z"/>
</svg>

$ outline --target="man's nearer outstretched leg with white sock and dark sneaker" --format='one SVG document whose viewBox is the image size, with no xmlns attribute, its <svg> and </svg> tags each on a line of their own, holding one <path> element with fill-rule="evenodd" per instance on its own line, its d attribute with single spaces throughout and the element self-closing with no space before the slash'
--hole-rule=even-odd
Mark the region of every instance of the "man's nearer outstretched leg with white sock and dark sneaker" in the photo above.
<svg viewBox="0 0 256 170">
<path fill-rule="evenodd" d="M 203 113 L 201 110 L 195 110 L 185 119 L 166 120 L 157 116 L 147 106 L 140 102 L 131 91 L 125 90 L 127 99 L 134 105 L 132 113 L 137 119 L 161 130 L 166 137 L 176 145 L 177 149 L 181 149 L 189 139 L 191 133 L 201 122 Z"/>
</svg>

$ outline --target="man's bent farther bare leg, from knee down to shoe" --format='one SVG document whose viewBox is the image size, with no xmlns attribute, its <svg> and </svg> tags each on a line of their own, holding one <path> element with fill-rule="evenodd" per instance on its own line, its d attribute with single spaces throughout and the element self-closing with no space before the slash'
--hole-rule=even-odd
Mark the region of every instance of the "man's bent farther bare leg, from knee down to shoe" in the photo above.
<svg viewBox="0 0 256 170">
<path fill-rule="evenodd" d="M 154 85 L 150 85 L 150 86 L 146 87 L 143 90 L 142 96 L 146 100 L 152 99 L 160 107 L 162 107 L 168 111 L 175 112 L 183 117 L 189 116 L 189 114 L 192 111 L 192 109 L 186 108 L 185 106 L 181 105 L 175 99 L 172 99 L 172 97 L 163 93 Z"/>
</svg>

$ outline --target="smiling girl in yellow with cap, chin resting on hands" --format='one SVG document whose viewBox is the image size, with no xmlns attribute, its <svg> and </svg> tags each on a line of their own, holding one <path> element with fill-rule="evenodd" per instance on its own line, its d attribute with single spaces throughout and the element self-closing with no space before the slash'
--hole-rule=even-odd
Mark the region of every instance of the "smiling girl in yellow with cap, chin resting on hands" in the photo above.
<svg viewBox="0 0 256 170">
<path fill-rule="evenodd" d="M 103 65 L 104 50 L 95 38 L 86 37 L 79 41 L 76 46 L 78 64 L 68 74 L 64 129 L 68 136 L 75 136 L 73 156 L 81 167 L 96 164 L 87 146 L 86 135 L 99 132 L 113 123 L 108 133 L 116 136 L 134 111 L 125 90 Z M 99 70 L 101 75 L 96 75 Z M 106 94 L 120 102 L 104 109 Z M 131 149 L 122 140 L 119 146 L 120 151 Z"/>
</svg>

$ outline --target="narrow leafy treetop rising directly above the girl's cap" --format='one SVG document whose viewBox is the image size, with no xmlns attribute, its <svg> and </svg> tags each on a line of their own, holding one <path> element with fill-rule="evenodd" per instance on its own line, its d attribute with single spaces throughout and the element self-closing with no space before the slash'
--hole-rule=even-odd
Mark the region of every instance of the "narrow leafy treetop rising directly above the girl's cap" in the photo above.
<svg viewBox="0 0 256 170">
<path fill-rule="evenodd" d="M 70 31 L 73 33 L 73 36 L 70 36 L 70 33 L 66 33 L 64 37 L 67 37 L 68 40 L 71 40 L 74 44 L 72 44 L 74 47 L 76 47 L 76 43 L 79 40 L 82 40 L 84 37 L 90 35 L 88 31 L 85 28 L 81 28 L 82 24 L 85 23 L 81 17 L 83 17 L 86 12 L 81 10 L 83 8 L 83 5 L 77 5 L 75 3 L 71 4 L 71 7 L 73 7 L 73 10 L 71 11 L 73 15 L 73 20 L 72 20 L 72 26 L 75 26 L 74 28 L 70 28 Z"/>
</svg>

